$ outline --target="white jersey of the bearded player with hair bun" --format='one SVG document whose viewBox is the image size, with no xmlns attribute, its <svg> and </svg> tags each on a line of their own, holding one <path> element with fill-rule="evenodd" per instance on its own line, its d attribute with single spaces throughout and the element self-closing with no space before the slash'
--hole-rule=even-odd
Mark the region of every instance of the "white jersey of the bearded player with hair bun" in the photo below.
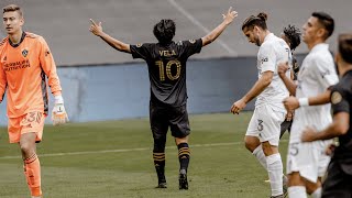
<svg viewBox="0 0 352 198">
<path fill-rule="evenodd" d="M 277 74 L 277 65 L 282 62 L 288 62 L 292 68 L 292 53 L 286 42 L 275 36 L 273 33 L 265 36 L 263 44 L 257 53 L 258 78 L 264 72 L 274 73 L 273 80 L 261 95 L 257 96 L 255 107 L 261 105 L 271 105 L 277 111 L 286 112 L 283 99 L 289 96 L 289 92 Z M 292 69 L 287 70 L 286 76 L 290 77 Z"/>
</svg>

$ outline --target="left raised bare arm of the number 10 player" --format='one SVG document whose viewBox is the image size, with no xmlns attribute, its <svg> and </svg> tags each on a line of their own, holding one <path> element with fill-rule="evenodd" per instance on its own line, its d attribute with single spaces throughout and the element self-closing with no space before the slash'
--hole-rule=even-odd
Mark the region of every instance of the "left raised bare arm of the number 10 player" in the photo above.
<svg viewBox="0 0 352 198">
<path fill-rule="evenodd" d="M 105 33 L 102 31 L 102 26 L 101 26 L 101 22 L 99 22 L 98 24 L 90 19 L 91 25 L 89 28 L 89 31 L 101 37 L 105 42 L 107 42 L 112 48 L 120 51 L 120 52 L 124 52 L 124 53 L 131 53 L 131 48 L 130 48 L 130 44 L 125 44 L 117 38 L 111 37 L 109 34 Z"/>
</svg>

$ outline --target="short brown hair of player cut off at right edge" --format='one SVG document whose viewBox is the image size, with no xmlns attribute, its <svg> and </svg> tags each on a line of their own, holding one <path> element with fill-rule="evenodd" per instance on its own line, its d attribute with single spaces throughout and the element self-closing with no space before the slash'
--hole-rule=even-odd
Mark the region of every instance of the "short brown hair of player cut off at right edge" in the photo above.
<svg viewBox="0 0 352 198">
<path fill-rule="evenodd" d="M 339 53 L 345 63 L 352 64 L 352 33 L 339 35 Z"/>
</svg>

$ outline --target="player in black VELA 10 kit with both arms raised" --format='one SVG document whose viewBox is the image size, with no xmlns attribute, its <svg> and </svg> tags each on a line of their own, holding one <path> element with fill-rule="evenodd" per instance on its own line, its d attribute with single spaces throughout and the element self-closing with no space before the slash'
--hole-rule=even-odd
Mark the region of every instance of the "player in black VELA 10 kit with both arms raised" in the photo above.
<svg viewBox="0 0 352 198">
<path fill-rule="evenodd" d="M 179 189 L 188 189 L 187 168 L 189 164 L 188 135 L 190 133 L 187 113 L 186 62 L 200 53 L 201 47 L 213 42 L 238 15 L 232 8 L 223 14 L 223 21 L 208 35 L 189 41 L 174 42 L 175 22 L 163 19 L 155 24 L 153 33 L 158 43 L 125 44 L 105 33 L 101 22 L 91 20 L 90 32 L 101 37 L 111 47 L 132 54 L 133 58 L 146 62 L 151 81 L 150 123 L 154 139 L 153 160 L 158 188 L 166 188 L 165 143 L 168 128 L 175 138 L 179 160 Z"/>
</svg>

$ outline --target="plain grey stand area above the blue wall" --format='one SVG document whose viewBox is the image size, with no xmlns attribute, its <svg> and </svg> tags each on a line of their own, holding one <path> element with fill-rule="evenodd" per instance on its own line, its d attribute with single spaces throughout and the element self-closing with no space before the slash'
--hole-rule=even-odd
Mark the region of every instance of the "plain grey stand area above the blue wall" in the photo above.
<svg viewBox="0 0 352 198">
<path fill-rule="evenodd" d="M 275 34 L 287 24 L 300 28 L 312 11 L 330 13 L 337 22 L 336 33 L 329 40 L 332 50 L 338 33 L 351 31 L 352 19 L 351 0 L 1 0 L 0 7 L 13 2 L 25 11 L 25 30 L 47 40 L 59 66 L 132 62 L 131 55 L 117 53 L 88 31 L 90 18 L 101 21 L 108 34 L 131 44 L 155 42 L 153 25 L 169 18 L 176 21 L 177 41 L 206 35 L 204 29 L 216 28 L 222 21 L 221 14 L 232 6 L 239 12 L 234 23 L 220 36 L 220 42 L 194 58 L 254 56 L 257 47 L 248 44 L 241 25 L 245 18 L 261 11 L 268 13 L 268 28 Z M 0 37 L 3 35 L 1 29 Z M 305 45 L 297 48 L 297 53 L 306 52 Z"/>
</svg>

